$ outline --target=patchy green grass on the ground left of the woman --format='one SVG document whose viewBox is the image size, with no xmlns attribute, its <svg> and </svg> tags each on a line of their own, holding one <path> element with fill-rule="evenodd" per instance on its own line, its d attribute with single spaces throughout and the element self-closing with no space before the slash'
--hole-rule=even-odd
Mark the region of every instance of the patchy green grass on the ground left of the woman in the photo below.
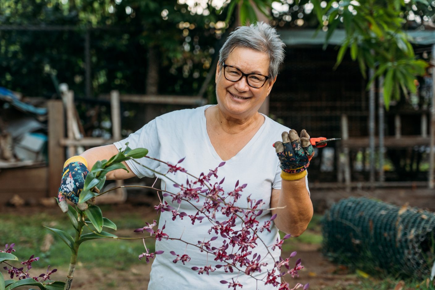
<svg viewBox="0 0 435 290">
<path fill-rule="evenodd" d="M 102 208 L 103 216 L 105 210 Z M 133 230 L 145 225 L 144 219 L 137 213 L 127 213 L 122 217 L 110 218 L 118 227 L 117 231 L 104 228 L 118 236 L 142 237 L 144 233 L 134 233 Z M 146 220 L 150 222 L 150 220 Z M 48 213 L 35 213 L 31 216 L 17 216 L 16 214 L 0 214 L 0 245 L 15 243 L 14 249 L 19 260 L 27 260 L 31 255 L 40 257 L 34 263 L 36 267 L 67 267 L 70 260 L 69 248 L 57 235 L 44 228 L 52 227 L 64 230 L 74 237 L 75 230 L 68 217 L 62 213 L 57 215 Z M 86 230 L 89 232 L 89 230 Z M 121 232 L 121 233 L 119 233 Z M 42 252 L 44 239 L 52 235 L 54 242 L 49 250 Z M 147 248 L 154 251 L 154 239 L 146 240 Z M 115 269 L 126 269 L 134 264 L 143 263 L 138 260 L 138 255 L 144 252 L 142 240 L 108 240 L 96 239 L 84 242 L 79 248 L 79 263 L 86 268 L 111 265 Z M 14 264 L 15 265 L 15 264 Z"/>
</svg>

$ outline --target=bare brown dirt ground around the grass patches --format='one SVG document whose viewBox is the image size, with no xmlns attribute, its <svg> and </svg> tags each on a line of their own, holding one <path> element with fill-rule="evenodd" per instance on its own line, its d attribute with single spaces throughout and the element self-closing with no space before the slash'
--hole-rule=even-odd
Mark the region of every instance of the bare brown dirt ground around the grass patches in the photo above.
<svg viewBox="0 0 435 290">
<path fill-rule="evenodd" d="M 0 207 L 3 213 L 13 212 L 17 214 L 30 215 L 40 210 L 47 213 L 58 213 L 57 207 L 41 208 L 41 207 Z M 111 215 L 122 215 L 131 210 L 141 212 L 144 216 L 154 213 L 150 207 L 141 206 L 133 207 L 129 204 L 116 206 L 116 210 L 105 214 L 108 218 Z M 311 290 L 319 289 L 346 289 L 347 285 L 358 285 L 359 278 L 355 274 L 348 274 L 345 267 L 335 265 L 328 261 L 319 252 L 318 245 L 298 243 L 295 245 L 297 256 L 301 258 L 302 265 L 305 269 L 299 271 L 300 277 L 292 280 L 287 278 L 287 282 L 291 285 L 296 283 L 310 283 Z M 290 253 L 283 253 L 283 257 L 288 257 Z M 116 257 L 114 257 L 116 258 Z M 51 278 L 53 280 L 64 280 L 66 277 L 67 268 L 57 267 L 57 273 L 54 273 Z M 43 273 L 46 269 L 34 268 L 35 273 Z M 140 264 L 131 267 L 128 270 L 114 270 L 113 268 L 98 267 L 93 269 L 85 269 L 80 267 L 80 261 L 74 274 L 74 282 L 72 289 L 74 290 L 102 290 L 102 289 L 120 289 L 120 290 L 147 290 L 149 273 L 151 271 L 150 264 Z M 27 289 L 27 288 L 26 288 Z"/>
</svg>

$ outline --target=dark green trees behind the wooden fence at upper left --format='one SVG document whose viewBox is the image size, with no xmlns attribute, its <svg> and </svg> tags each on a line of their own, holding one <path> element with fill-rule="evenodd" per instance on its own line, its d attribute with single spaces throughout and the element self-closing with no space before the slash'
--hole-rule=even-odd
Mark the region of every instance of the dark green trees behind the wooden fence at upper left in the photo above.
<svg viewBox="0 0 435 290">
<path fill-rule="evenodd" d="M 174 0 L 118 2 L 2 1 L 2 25 L 45 28 L 0 30 L 0 86 L 51 97 L 54 77 L 76 97 L 92 97 L 85 95 L 89 33 L 93 96 L 110 90 L 145 93 L 151 48 L 157 51 L 159 93 L 196 94 L 217 54 L 223 30 L 214 24 L 224 15 L 190 13 Z M 64 28 L 48 30 L 52 26 Z"/>
</svg>

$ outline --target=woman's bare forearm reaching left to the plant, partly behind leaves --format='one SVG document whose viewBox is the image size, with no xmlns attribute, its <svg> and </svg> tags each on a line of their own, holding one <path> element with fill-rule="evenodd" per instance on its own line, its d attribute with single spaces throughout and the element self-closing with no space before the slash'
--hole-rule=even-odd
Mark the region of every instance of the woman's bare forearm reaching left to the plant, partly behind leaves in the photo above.
<svg viewBox="0 0 435 290">
<path fill-rule="evenodd" d="M 91 168 L 94 166 L 94 164 L 98 160 L 109 160 L 112 156 L 116 155 L 118 153 L 118 149 L 115 147 L 115 145 L 106 145 L 106 146 L 100 146 L 100 147 L 94 147 L 90 148 L 83 153 L 80 154 L 80 156 L 84 157 L 87 161 L 87 168 L 91 170 Z M 128 167 L 127 163 L 122 162 L 125 167 L 127 168 L 128 172 L 124 169 L 117 169 L 113 170 L 107 173 L 106 179 L 107 180 L 120 180 L 120 179 L 127 179 L 130 177 L 134 177 L 134 173 L 131 171 L 130 167 Z"/>
</svg>

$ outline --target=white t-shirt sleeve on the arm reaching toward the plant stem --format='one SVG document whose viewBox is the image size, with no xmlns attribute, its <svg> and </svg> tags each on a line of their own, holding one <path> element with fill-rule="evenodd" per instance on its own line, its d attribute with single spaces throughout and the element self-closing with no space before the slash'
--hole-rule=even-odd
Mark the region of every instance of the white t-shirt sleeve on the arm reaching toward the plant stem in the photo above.
<svg viewBox="0 0 435 290">
<path fill-rule="evenodd" d="M 118 150 L 124 150 L 126 147 L 125 144 L 127 142 L 128 147 L 131 149 L 146 148 L 148 149 L 147 156 L 160 159 L 160 140 L 157 130 L 157 122 L 155 119 L 145 124 L 144 127 L 136 132 L 131 133 L 124 140 L 115 142 L 114 145 L 118 148 Z M 135 161 L 141 163 L 145 167 L 136 163 Z M 131 171 L 133 171 L 133 173 L 140 178 L 155 177 L 153 170 L 157 170 L 157 168 L 160 166 L 160 162 L 146 157 L 141 159 L 127 160 L 126 163 L 131 168 Z"/>
</svg>

